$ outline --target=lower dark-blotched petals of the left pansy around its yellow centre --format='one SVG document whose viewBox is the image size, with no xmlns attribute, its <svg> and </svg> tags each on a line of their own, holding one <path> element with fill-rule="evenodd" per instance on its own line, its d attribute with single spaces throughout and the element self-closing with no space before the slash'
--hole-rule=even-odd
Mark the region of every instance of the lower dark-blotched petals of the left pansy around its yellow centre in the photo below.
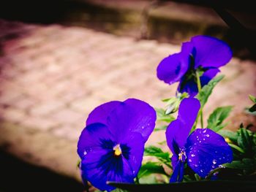
<svg viewBox="0 0 256 192">
<path fill-rule="evenodd" d="M 113 146 L 113 145 L 112 145 Z M 82 177 L 100 190 L 113 190 L 107 181 L 133 183 L 143 159 L 144 142 L 139 133 L 122 142 L 121 155 L 116 157 L 113 147 L 97 148 L 83 156 Z"/>
</svg>

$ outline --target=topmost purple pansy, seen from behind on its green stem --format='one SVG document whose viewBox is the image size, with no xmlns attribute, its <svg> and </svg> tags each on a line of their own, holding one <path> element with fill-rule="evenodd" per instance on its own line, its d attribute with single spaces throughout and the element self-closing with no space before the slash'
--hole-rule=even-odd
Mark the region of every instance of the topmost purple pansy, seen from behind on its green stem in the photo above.
<svg viewBox="0 0 256 192">
<path fill-rule="evenodd" d="M 232 51 L 225 42 L 214 37 L 195 36 L 182 44 L 180 53 L 169 55 L 160 62 L 157 77 L 168 84 L 179 82 L 178 92 L 187 92 L 193 97 L 198 93 L 195 72 L 203 72 L 200 77 L 203 87 L 231 58 Z"/>
</svg>

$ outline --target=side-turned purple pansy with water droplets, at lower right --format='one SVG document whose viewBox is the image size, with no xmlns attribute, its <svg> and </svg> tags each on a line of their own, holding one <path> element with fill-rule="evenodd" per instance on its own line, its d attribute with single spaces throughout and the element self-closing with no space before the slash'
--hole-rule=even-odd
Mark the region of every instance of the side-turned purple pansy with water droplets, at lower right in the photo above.
<svg viewBox="0 0 256 192">
<path fill-rule="evenodd" d="M 173 153 L 170 182 L 183 180 L 186 163 L 200 177 L 206 177 L 211 170 L 233 160 L 230 146 L 211 129 L 197 128 L 189 135 L 199 109 L 200 102 L 197 99 L 183 99 L 178 118 L 167 127 L 167 145 Z"/>
</svg>

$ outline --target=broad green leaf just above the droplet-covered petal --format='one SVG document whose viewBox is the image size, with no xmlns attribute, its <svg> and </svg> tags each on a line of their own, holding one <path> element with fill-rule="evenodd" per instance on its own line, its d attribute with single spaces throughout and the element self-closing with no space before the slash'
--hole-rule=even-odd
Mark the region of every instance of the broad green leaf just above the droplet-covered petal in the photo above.
<svg viewBox="0 0 256 192">
<path fill-rule="evenodd" d="M 219 131 L 220 129 L 224 128 L 225 125 L 222 125 L 222 122 L 230 114 L 232 108 L 232 106 L 226 106 L 215 109 L 207 120 L 207 128 L 211 128 L 213 131 Z"/>
</svg>

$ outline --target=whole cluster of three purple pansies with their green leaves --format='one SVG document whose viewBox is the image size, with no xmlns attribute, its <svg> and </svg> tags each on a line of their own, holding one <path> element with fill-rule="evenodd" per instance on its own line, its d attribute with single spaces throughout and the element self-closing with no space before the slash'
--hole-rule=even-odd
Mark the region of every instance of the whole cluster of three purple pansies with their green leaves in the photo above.
<svg viewBox="0 0 256 192">
<path fill-rule="evenodd" d="M 84 184 L 113 191 L 115 185 L 108 182 L 138 185 L 140 177 L 148 173 L 164 174 L 170 183 L 180 183 L 221 178 L 219 169 L 236 167 L 237 160 L 246 159 L 256 167 L 256 152 L 248 151 L 256 146 L 255 134 L 242 127 L 237 133 L 221 130 L 232 107 L 217 108 L 209 116 L 208 126 L 203 126 L 203 106 L 221 80 L 214 77 L 231 58 L 232 52 L 225 42 L 214 37 L 192 37 L 183 43 L 180 53 L 164 58 L 157 67 L 159 80 L 168 84 L 179 82 L 176 97 L 166 100 L 167 110 L 156 110 L 139 99 L 110 101 L 96 107 L 78 139 Z M 255 97 L 250 98 L 256 103 Z M 255 107 L 249 110 L 255 112 Z M 176 111 L 178 115 L 174 118 L 172 114 Z M 199 118 L 201 128 L 197 128 Z M 155 128 L 157 119 L 167 125 Z M 165 130 L 163 143 L 167 143 L 170 152 L 145 146 L 148 137 L 157 130 Z M 143 164 L 143 155 L 154 156 L 159 162 Z M 162 165 L 170 167 L 171 174 Z"/>
</svg>

